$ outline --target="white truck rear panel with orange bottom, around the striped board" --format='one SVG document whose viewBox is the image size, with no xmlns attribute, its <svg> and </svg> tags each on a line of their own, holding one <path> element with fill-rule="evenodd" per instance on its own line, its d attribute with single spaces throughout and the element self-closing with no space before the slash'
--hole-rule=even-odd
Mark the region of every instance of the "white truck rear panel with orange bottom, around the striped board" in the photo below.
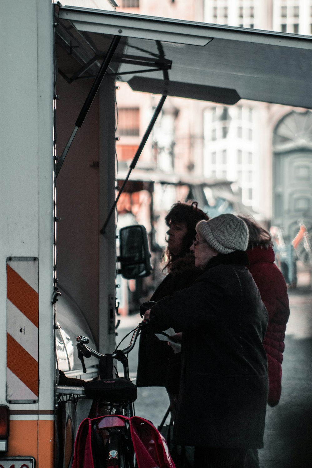
<svg viewBox="0 0 312 468">
<path fill-rule="evenodd" d="M 2 311 L 0 404 L 9 406 L 10 432 L 8 451 L 0 453 L 0 457 L 33 456 L 37 466 L 52 467 L 55 373 L 54 319 L 51 306 L 53 291 L 52 6 L 51 3 L 40 0 L 27 2 L 4 0 L 1 7 L 0 108 L 3 118 L 0 126 L 0 308 Z M 11 338 L 7 340 L 5 311 L 8 300 L 7 259 L 9 257 L 38 259 L 36 261 L 38 338 L 37 342 L 36 337 L 29 339 L 32 349 L 30 352 L 38 355 L 36 361 L 38 370 L 35 372 L 37 383 L 30 391 L 38 395 L 28 403 L 7 401 L 10 400 L 7 398 L 7 346 L 8 361 L 14 362 L 17 358 L 17 355 L 12 356 L 13 351 L 10 351 Z M 17 314 L 22 314 L 23 310 L 25 312 L 28 309 L 29 296 L 22 297 L 21 301 L 14 306 Z M 9 309 L 8 314 L 12 319 L 12 312 Z M 8 320 L 9 326 L 11 324 L 12 327 L 12 323 L 12 320 L 11 322 Z M 27 327 L 25 327 L 25 336 L 26 329 Z M 10 331 L 13 333 L 12 329 Z M 20 364 L 22 367 L 22 363 Z M 26 383 L 29 383 L 27 380 L 29 366 L 26 364 L 25 369 L 24 376 Z M 29 374 L 32 371 L 33 369 L 29 369 Z"/>
</svg>

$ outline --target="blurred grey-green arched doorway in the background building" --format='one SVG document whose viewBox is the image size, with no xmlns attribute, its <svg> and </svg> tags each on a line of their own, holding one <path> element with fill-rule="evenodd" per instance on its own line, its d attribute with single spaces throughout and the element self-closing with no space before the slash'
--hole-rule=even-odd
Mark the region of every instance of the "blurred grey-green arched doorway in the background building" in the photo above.
<svg viewBox="0 0 312 468">
<path fill-rule="evenodd" d="M 292 110 L 273 132 L 272 224 L 292 241 L 300 221 L 312 227 L 312 112 Z"/>
</svg>

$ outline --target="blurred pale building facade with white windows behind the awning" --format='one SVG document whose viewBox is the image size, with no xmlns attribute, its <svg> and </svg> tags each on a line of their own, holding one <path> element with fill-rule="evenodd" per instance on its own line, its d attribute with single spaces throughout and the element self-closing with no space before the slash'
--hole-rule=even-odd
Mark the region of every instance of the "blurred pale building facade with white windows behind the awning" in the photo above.
<svg viewBox="0 0 312 468">
<path fill-rule="evenodd" d="M 117 10 L 312 33 L 311 0 L 120 0 Z M 131 160 L 158 99 L 120 84 L 119 163 Z M 312 223 L 311 118 L 309 110 L 276 104 L 241 100 L 231 107 L 170 97 L 138 166 L 181 177 L 232 181 L 244 205 L 283 227 L 286 237 L 293 237 L 299 218 Z"/>
</svg>

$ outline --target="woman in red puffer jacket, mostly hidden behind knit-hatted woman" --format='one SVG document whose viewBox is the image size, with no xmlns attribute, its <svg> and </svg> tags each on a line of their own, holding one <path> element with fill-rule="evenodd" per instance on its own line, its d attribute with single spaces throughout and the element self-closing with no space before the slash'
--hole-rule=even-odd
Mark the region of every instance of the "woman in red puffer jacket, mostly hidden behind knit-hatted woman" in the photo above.
<svg viewBox="0 0 312 468">
<path fill-rule="evenodd" d="M 268 310 L 268 328 L 263 346 L 268 358 L 268 405 L 276 406 L 282 392 L 282 362 L 286 323 L 290 309 L 287 286 L 274 263 L 271 235 L 249 216 L 239 216 L 247 224 L 249 243 L 248 270 L 258 286 L 261 299 Z"/>
</svg>

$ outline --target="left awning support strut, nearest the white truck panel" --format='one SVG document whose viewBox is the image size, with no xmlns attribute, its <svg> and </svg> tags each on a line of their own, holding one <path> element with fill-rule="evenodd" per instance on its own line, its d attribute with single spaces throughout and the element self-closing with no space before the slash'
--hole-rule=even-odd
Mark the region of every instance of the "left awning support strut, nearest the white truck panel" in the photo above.
<svg viewBox="0 0 312 468">
<path fill-rule="evenodd" d="M 88 110 L 90 109 L 91 107 L 91 104 L 94 100 L 94 97 L 102 83 L 102 80 L 105 76 L 105 73 L 109 67 L 109 64 L 111 62 L 111 59 L 113 58 L 113 55 L 116 51 L 116 48 L 117 48 L 117 45 L 119 44 L 119 41 L 121 39 L 121 36 L 114 36 L 110 46 L 109 46 L 109 50 L 107 51 L 107 54 L 105 56 L 105 59 L 103 60 L 102 62 L 102 65 L 100 67 L 100 70 L 99 70 L 99 73 L 96 75 L 95 77 L 95 80 L 93 82 L 93 85 L 89 91 L 89 94 L 87 95 L 87 99 L 85 101 L 85 103 L 83 104 L 82 106 L 82 109 L 80 110 L 80 114 L 76 120 L 76 123 L 75 123 L 75 128 L 73 129 L 73 133 L 70 137 L 70 139 L 68 140 L 65 148 L 64 148 L 64 151 L 56 165 L 56 176 L 58 176 L 58 173 L 60 171 L 60 168 L 62 167 L 63 165 L 63 162 L 65 160 L 65 157 L 68 153 L 68 150 L 69 148 L 71 147 L 72 143 L 73 143 L 73 139 L 75 138 L 76 136 L 76 133 L 78 131 L 78 128 L 81 127 L 81 125 L 83 124 L 83 121 L 85 120 L 85 117 L 88 113 Z"/>
</svg>

